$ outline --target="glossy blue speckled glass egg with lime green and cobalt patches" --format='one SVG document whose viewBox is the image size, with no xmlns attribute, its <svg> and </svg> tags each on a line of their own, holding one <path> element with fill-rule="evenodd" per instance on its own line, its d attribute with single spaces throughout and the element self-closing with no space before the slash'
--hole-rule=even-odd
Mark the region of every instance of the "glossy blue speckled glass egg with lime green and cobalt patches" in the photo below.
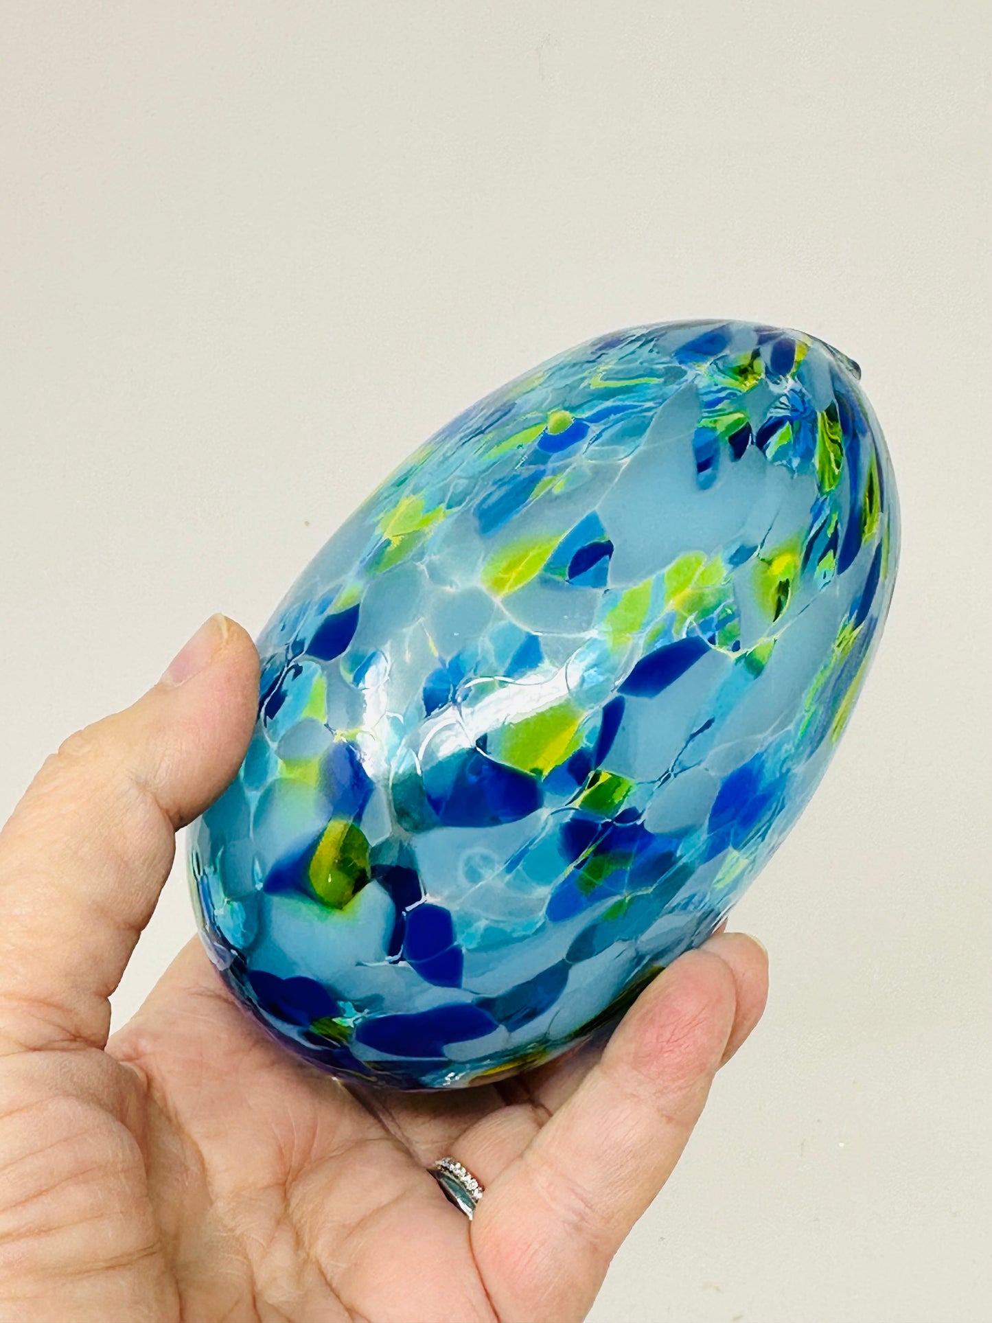
<svg viewBox="0 0 992 1323">
<path fill-rule="evenodd" d="M 602 336 L 374 491 L 259 639 L 192 832 L 204 941 L 282 1043 L 500 1078 L 704 941 L 819 782 L 891 597 L 858 369 L 811 336 Z"/>
</svg>

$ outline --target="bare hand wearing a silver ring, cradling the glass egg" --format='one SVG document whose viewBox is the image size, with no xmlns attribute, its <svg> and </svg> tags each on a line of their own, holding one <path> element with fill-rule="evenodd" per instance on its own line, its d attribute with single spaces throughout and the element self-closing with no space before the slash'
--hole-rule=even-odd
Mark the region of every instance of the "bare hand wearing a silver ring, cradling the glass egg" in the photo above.
<svg viewBox="0 0 992 1323">
<path fill-rule="evenodd" d="M 571 1320 L 754 1028 L 766 958 L 722 934 L 606 1048 L 462 1093 L 348 1089 L 231 1000 L 198 942 L 107 1041 L 176 828 L 247 746 L 258 659 L 214 618 L 66 741 L 0 833 L 0 1319 Z M 483 1183 L 475 1220 L 425 1166 Z"/>
</svg>

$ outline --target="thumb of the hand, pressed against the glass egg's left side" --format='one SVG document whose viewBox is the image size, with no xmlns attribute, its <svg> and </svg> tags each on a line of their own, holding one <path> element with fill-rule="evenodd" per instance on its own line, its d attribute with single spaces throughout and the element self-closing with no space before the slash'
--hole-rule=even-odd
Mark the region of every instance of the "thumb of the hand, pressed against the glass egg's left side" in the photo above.
<svg viewBox="0 0 992 1323">
<path fill-rule="evenodd" d="M 254 644 L 214 615 L 134 706 L 45 762 L 0 832 L 0 1050 L 106 1044 L 176 830 L 234 777 L 257 700 Z"/>
</svg>

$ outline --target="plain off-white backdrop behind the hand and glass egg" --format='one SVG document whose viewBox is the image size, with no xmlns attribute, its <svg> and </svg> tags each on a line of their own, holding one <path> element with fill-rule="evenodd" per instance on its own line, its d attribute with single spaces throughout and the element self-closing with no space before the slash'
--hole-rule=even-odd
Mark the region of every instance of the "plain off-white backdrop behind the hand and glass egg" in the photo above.
<svg viewBox="0 0 992 1323">
<path fill-rule="evenodd" d="M 522 369 L 675 318 L 824 337 L 891 447 L 895 602 L 735 916 L 766 1019 L 591 1318 L 988 1323 L 992 5 L 0 17 L 0 811 Z M 177 867 L 118 1023 L 190 931 Z"/>
</svg>

